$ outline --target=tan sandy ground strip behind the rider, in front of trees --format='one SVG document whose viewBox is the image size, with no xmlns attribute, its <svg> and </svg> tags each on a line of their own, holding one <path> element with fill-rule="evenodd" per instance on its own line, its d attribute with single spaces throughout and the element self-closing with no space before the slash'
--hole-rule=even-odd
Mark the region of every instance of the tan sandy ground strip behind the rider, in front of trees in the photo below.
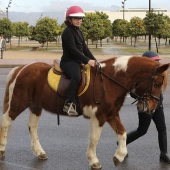
<svg viewBox="0 0 170 170">
<path fill-rule="evenodd" d="M 54 59 L 60 59 L 62 53 L 51 52 L 51 51 L 14 51 L 9 50 L 4 52 L 4 59 L 0 59 L 1 68 L 12 68 L 14 66 L 29 64 L 33 62 L 46 62 L 52 64 Z M 95 54 L 95 57 L 98 61 L 111 58 L 115 55 L 111 54 Z M 161 55 L 162 62 L 170 62 L 170 56 Z"/>
</svg>

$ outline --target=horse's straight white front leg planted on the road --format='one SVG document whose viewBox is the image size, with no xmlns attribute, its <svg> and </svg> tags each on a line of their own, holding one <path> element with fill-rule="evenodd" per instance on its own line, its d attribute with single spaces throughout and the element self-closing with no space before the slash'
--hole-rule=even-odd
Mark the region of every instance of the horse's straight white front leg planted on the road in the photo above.
<svg viewBox="0 0 170 170">
<path fill-rule="evenodd" d="M 98 144 L 98 140 L 100 138 L 100 134 L 102 131 L 102 127 L 99 126 L 99 122 L 96 116 L 92 116 L 90 118 L 90 133 L 89 133 L 89 146 L 87 150 L 87 158 L 89 164 L 92 169 L 101 169 L 102 166 L 96 156 L 96 147 Z"/>
</svg>

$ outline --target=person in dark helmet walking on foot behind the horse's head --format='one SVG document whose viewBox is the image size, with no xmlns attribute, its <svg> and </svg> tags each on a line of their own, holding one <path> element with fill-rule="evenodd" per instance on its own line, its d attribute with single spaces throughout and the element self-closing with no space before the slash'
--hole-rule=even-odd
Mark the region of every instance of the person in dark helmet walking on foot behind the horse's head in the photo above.
<svg viewBox="0 0 170 170">
<path fill-rule="evenodd" d="M 156 54 L 152 51 L 147 51 L 142 56 L 151 58 L 152 60 L 155 60 L 155 61 L 160 60 L 160 57 L 158 56 L 158 54 Z M 165 124 L 165 116 L 164 116 L 164 109 L 163 109 L 163 95 L 162 95 L 162 93 L 160 95 L 160 100 L 159 100 L 158 106 L 157 106 L 153 116 L 150 116 L 147 113 L 138 111 L 138 117 L 139 117 L 138 128 L 127 134 L 126 144 L 128 145 L 129 143 L 135 141 L 139 137 L 145 135 L 147 133 L 147 130 L 149 128 L 151 120 L 153 120 L 156 125 L 156 129 L 158 131 L 160 161 L 170 164 L 170 158 L 167 154 L 167 133 L 166 133 L 166 124 Z"/>
</svg>

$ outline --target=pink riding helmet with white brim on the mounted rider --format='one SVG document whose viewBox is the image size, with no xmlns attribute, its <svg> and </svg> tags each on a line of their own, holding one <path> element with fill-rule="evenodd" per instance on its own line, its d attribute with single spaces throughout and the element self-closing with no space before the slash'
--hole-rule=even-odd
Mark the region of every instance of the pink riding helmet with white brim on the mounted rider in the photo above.
<svg viewBox="0 0 170 170">
<path fill-rule="evenodd" d="M 84 11 L 79 6 L 71 6 L 66 12 L 66 17 L 84 17 Z"/>
</svg>

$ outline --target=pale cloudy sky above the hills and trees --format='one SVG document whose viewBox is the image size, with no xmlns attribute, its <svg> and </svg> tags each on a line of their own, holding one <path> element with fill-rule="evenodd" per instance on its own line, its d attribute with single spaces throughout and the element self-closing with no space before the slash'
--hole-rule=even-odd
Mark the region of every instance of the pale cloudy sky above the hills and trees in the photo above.
<svg viewBox="0 0 170 170">
<path fill-rule="evenodd" d="M 84 10 L 110 10 L 111 6 L 122 6 L 124 0 L 12 0 L 9 12 L 63 11 L 72 5 Z M 170 10 L 170 0 L 150 0 L 151 8 Z M 5 11 L 9 0 L 0 0 L 0 10 Z M 126 0 L 125 8 L 148 8 L 149 0 Z"/>
</svg>

